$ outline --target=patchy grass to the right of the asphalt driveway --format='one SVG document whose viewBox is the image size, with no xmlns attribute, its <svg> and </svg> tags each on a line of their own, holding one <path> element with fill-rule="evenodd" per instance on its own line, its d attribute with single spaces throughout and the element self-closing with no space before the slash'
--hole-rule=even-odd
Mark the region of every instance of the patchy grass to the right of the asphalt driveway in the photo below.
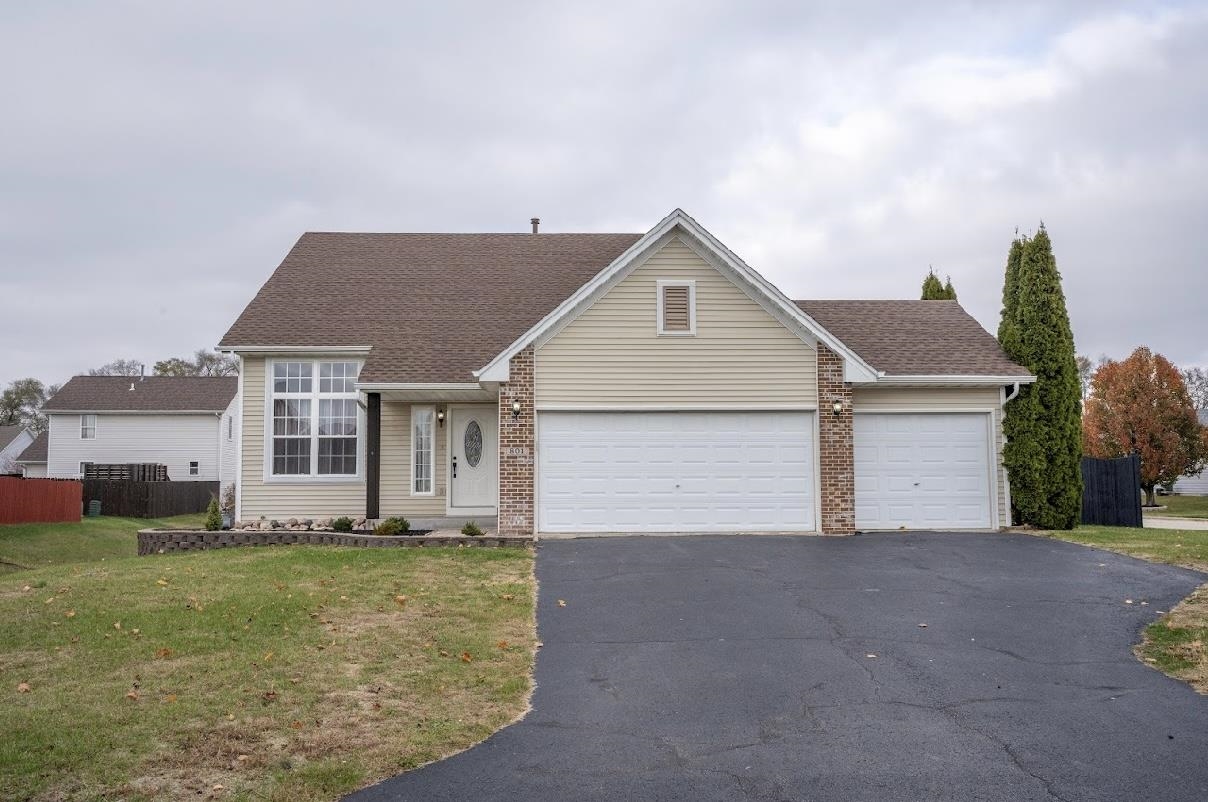
<svg viewBox="0 0 1208 802">
<path fill-rule="evenodd" d="M 1190 498 L 1190 496 L 1169 496 Z M 1073 531 L 1044 533 L 1049 537 L 1139 557 L 1155 563 L 1208 571 L 1208 531 L 1079 527 Z M 1137 655 L 1166 674 L 1208 693 L 1208 583 L 1145 628 Z"/>
</svg>

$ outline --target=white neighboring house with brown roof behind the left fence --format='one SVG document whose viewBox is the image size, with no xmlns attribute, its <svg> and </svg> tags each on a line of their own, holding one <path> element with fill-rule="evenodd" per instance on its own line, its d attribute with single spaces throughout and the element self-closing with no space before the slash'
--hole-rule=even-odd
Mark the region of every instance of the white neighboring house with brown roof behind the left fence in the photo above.
<svg viewBox="0 0 1208 802">
<path fill-rule="evenodd" d="M 87 463 L 155 463 L 168 478 L 233 482 L 239 436 L 236 377 L 76 376 L 42 407 L 47 475 Z"/>
</svg>

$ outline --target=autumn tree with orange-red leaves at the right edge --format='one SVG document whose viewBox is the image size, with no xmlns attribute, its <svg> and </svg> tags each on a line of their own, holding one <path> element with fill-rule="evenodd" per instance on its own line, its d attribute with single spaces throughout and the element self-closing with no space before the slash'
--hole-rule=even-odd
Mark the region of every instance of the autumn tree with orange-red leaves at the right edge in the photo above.
<svg viewBox="0 0 1208 802">
<path fill-rule="evenodd" d="M 1148 348 L 1094 372 L 1082 415 L 1082 446 L 1100 459 L 1140 454 L 1140 484 L 1149 506 L 1157 486 L 1194 475 L 1208 463 L 1208 429 L 1196 419 L 1183 376 Z"/>
</svg>

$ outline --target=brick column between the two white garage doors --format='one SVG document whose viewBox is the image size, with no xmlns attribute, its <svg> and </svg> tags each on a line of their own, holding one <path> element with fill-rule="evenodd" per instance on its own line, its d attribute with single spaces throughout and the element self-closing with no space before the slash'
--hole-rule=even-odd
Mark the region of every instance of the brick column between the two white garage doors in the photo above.
<svg viewBox="0 0 1208 802">
<path fill-rule="evenodd" d="M 835 414 L 835 402 L 843 411 Z M 855 465 L 852 437 L 852 385 L 843 382 L 843 358 L 818 345 L 818 454 L 821 465 L 821 530 L 855 533 Z"/>
</svg>

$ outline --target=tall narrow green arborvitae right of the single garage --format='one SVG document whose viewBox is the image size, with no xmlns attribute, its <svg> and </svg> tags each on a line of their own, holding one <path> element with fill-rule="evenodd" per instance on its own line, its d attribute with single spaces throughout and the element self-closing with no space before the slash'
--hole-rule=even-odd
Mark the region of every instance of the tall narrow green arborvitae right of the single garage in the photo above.
<svg viewBox="0 0 1208 802">
<path fill-rule="evenodd" d="M 1081 384 L 1061 273 L 1044 225 L 1016 240 L 1003 286 L 999 343 L 1036 376 L 1006 407 L 1003 461 L 1021 523 L 1073 529 L 1081 516 Z"/>
</svg>

